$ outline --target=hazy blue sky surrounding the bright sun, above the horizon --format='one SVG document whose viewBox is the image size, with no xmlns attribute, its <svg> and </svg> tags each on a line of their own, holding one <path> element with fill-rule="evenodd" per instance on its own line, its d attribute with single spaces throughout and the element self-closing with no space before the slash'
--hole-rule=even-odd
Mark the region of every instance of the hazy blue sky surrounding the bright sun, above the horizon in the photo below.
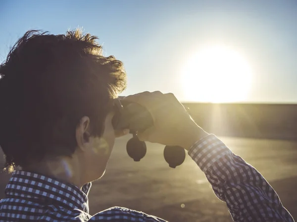
<svg viewBox="0 0 297 222">
<path fill-rule="evenodd" d="M 0 61 L 29 29 L 61 34 L 81 27 L 99 37 L 105 55 L 124 62 L 122 95 L 160 90 L 191 101 L 182 67 L 199 47 L 223 44 L 252 70 L 247 97 L 235 102 L 297 103 L 296 21 L 296 0 L 2 0 Z"/>
</svg>

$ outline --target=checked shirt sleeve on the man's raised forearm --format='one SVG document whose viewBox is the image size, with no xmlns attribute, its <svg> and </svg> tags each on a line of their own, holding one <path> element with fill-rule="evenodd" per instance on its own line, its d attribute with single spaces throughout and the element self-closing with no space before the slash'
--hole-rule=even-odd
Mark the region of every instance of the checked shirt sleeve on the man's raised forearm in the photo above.
<svg viewBox="0 0 297 222">
<path fill-rule="evenodd" d="M 264 177 L 215 135 L 196 142 L 188 154 L 235 222 L 294 222 Z"/>
</svg>

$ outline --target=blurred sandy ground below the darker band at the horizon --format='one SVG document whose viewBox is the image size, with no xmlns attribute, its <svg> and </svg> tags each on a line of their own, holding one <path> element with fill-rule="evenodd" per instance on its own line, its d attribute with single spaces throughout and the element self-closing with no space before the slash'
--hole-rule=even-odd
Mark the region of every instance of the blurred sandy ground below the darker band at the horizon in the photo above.
<svg viewBox="0 0 297 222">
<path fill-rule="evenodd" d="M 147 143 L 147 155 L 134 162 L 126 153 L 130 136 L 118 139 L 105 175 L 93 183 L 90 211 L 112 206 L 143 211 L 170 222 L 230 222 L 225 203 L 217 199 L 204 174 L 187 156 L 176 169 L 163 158 L 163 146 Z M 297 218 L 297 142 L 220 137 L 254 166 Z M 2 174 L 0 197 L 9 175 Z"/>
</svg>

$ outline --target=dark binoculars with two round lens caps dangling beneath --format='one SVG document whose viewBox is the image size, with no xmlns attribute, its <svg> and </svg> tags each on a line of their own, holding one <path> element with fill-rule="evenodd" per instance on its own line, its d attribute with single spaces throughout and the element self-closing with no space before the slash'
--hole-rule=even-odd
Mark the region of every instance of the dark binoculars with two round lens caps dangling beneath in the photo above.
<svg viewBox="0 0 297 222">
<path fill-rule="evenodd" d="M 145 142 L 138 139 L 137 132 L 143 132 L 153 126 L 151 114 L 145 107 L 120 98 L 114 100 L 114 107 L 113 128 L 130 130 L 133 138 L 127 143 L 127 153 L 134 161 L 140 161 L 147 153 L 147 146 Z M 165 146 L 163 154 L 171 168 L 181 165 L 186 158 L 185 149 L 179 146 Z"/>
</svg>

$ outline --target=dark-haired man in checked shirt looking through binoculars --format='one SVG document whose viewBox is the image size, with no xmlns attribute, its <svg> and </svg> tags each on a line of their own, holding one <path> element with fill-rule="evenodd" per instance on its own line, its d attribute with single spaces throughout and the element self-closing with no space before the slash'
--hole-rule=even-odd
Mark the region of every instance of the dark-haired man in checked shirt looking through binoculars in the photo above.
<svg viewBox="0 0 297 222">
<path fill-rule="evenodd" d="M 0 146 L 6 169 L 22 169 L 6 186 L 0 221 L 164 221 L 120 207 L 89 214 L 90 182 L 104 174 L 115 137 L 127 133 L 114 132 L 111 123 L 126 74 L 96 39 L 80 31 L 29 31 L 0 66 Z M 261 174 L 203 131 L 173 94 L 124 99 L 153 117 L 140 140 L 188 150 L 234 221 L 294 221 Z"/>
</svg>

